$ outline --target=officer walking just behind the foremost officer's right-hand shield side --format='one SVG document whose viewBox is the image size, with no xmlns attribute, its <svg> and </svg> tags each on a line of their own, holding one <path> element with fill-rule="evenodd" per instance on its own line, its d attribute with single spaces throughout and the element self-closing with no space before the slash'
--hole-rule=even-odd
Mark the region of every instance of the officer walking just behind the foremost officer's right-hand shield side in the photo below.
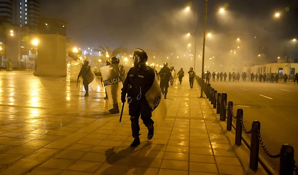
<svg viewBox="0 0 298 175">
<path fill-rule="evenodd" d="M 171 70 L 168 67 L 167 62 L 163 62 L 163 67 L 159 71 L 160 76 L 160 89 L 162 94 L 164 94 L 164 99 L 166 99 L 167 89 L 169 88 L 169 81 L 172 77 Z"/>
</svg>

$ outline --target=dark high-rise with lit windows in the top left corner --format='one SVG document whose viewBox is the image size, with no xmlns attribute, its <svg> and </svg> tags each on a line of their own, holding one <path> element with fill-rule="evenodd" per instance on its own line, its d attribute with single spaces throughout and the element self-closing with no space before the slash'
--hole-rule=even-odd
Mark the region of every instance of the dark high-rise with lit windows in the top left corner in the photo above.
<svg viewBox="0 0 298 175">
<path fill-rule="evenodd" d="M 40 0 L 0 0 L 0 18 L 12 25 L 37 30 Z"/>
</svg>

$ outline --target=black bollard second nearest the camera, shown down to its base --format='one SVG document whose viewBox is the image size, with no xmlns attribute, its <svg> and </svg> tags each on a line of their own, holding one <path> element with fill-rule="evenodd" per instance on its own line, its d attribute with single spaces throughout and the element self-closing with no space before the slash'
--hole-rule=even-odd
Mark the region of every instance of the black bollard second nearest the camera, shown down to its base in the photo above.
<svg viewBox="0 0 298 175">
<path fill-rule="evenodd" d="M 251 125 L 251 142 L 250 142 L 250 159 L 249 168 L 251 170 L 258 170 L 259 163 L 259 131 L 261 123 L 259 121 L 253 121 Z M 293 172 L 292 172 L 293 173 Z"/>
</svg>

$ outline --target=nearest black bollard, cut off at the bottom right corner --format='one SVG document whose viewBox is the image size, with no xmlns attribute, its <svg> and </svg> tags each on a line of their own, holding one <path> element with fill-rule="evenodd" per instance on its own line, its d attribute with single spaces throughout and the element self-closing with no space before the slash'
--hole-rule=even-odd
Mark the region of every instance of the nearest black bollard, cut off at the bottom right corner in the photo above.
<svg viewBox="0 0 298 175">
<path fill-rule="evenodd" d="M 285 144 L 281 148 L 280 153 L 280 175 L 293 175 L 294 168 L 294 148 Z"/>
</svg>

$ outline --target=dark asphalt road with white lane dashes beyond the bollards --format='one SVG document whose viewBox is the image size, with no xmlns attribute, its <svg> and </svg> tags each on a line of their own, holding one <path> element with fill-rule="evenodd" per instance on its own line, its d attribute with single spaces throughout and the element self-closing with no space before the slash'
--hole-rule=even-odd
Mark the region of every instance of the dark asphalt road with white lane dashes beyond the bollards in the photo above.
<svg viewBox="0 0 298 175">
<path fill-rule="evenodd" d="M 261 137 L 271 154 L 278 154 L 283 144 L 296 149 L 298 162 L 298 85 L 293 83 L 270 82 L 221 82 L 211 81 L 218 92 L 227 93 L 227 101 L 233 102 L 233 113 L 243 109 L 243 122 L 250 130 L 251 123 L 261 123 Z M 248 134 L 250 138 L 250 134 Z M 260 152 L 265 153 L 260 147 Z M 276 170 L 279 159 L 264 156 Z"/>
</svg>

